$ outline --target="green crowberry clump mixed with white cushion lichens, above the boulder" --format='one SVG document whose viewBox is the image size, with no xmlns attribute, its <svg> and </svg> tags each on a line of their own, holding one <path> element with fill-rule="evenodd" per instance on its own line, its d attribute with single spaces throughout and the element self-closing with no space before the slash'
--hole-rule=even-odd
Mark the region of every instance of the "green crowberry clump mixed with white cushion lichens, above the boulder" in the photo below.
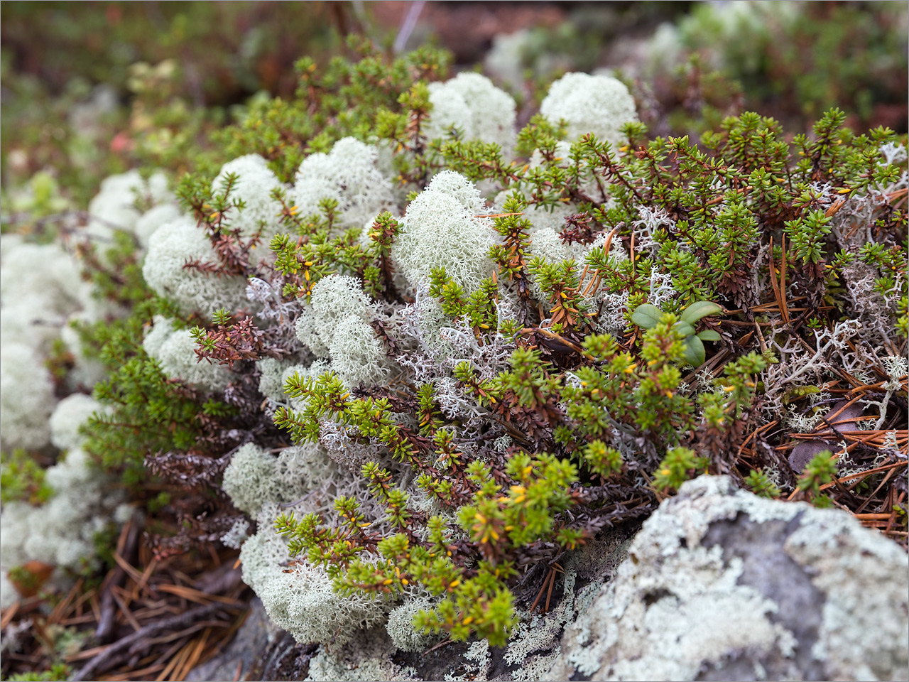
<svg viewBox="0 0 909 682">
<path fill-rule="evenodd" d="M 904 452 L 786 458 L 831 391 L 874 385 L 905 427 L 905 140 L 834 109 L 695 144 L 623 107 L 595 109 L 620 140 L 564 139 L 583 88 L 518 131 L 483 76 L 433 85 L 445 55 L 355 47 L 219 133 L 243 156 L 181 181 L 155 304 L 93 332 L 116 409 L 89 448 L 222 502 L 226 466 L 257 526 L 222 507 L 221 532 L 279 625 L 330 641 L 419 602 L 419 633 L 502 645 L 528 571 L 693 476 L 819 499 L 835 456 Z M 560 87 L 591 79 L 624 88 Z"/>
</svg>

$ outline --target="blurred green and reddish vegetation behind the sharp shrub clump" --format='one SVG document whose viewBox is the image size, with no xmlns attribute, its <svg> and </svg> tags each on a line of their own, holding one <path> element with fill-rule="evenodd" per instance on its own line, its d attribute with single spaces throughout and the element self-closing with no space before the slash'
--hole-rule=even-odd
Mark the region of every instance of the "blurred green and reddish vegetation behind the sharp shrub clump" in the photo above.
<svg viewBox="0 0 909 682">
<path fill-rule="evenodd" d="M 565 71 L 612 70 L 659 135 L 750 109 L 804 130 L 830 106 L 906 130 L 904 2 L 11 2 L 0 5 L 8 216 L 84 208 L 102 178 L 175 176 L 250 105 L 293 97 L 296 59 L 345 35 L 427 41 L 534 113 Z"/>
</svg>

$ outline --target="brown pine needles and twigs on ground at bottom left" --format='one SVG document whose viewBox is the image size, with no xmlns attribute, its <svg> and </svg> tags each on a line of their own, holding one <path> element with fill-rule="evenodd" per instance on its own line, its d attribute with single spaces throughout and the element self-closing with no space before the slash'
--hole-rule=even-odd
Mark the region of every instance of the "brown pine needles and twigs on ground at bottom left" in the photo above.
<svg viewBox="0 0 909 682">
<path fill-rule="evenodd" d="M 156 560 L 141 530 L 136 517 L 125 524 L 114 566 L 100 582 L 80 578 L 65 594 L 39 593 L 3 612 L 0 628 L 31 620 L 20 650 L 4 654 L 3 677 L 49 667 L 55 642 L 68 632 L 84 643 L 64 657 L 70 678 L 109 682 L 185 679 L 233 639 L 252 594 L 236 551 L 213 545 Z M 99 643 L 102 627 L 107 641 Z"/>
</svg>

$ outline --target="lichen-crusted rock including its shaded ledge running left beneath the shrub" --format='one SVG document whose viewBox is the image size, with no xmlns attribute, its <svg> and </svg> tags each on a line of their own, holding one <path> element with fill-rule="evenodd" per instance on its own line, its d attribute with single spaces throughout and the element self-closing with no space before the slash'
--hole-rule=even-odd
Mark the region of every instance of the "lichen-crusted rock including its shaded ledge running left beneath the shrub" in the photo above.
<svg viewBox="0 0 909 682">
<path fill-rule="evenodd" d="M 507 647 L 410 652 L 375 626 L 288 656 L 314 680 L 909 677 L 909 560 L 843 512 L 702 476 L 623 537 L 566 557 L 554 607 Z"/>
</svg>

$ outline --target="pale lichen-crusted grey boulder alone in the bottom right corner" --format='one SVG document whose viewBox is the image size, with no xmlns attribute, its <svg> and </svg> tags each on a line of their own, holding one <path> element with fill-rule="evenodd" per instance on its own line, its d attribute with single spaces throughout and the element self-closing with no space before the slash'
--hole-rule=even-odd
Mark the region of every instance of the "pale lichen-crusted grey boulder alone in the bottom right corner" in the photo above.
<svg viewBox="0 0 909 682">
<path fill-rule="evenodd" d="M 907 679 L 909 560 L 838 510 L 701 476 L 666 500 L 546 679 Z"/>
</svg>

